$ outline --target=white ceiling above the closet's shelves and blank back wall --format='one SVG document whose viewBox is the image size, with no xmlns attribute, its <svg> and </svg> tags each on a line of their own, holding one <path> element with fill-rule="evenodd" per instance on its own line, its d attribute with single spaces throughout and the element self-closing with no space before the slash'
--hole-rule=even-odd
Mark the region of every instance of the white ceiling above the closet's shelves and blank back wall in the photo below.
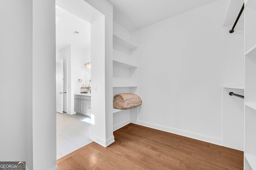
<svg viewBox="0 0 256 170">
<path fill-rule="evenodd" d="M 129 31 L 190 11 L 216 0 L 108 0 L 114 21 Z M 218 11 L 216 11 L 218 12 Z"/>
</svg>

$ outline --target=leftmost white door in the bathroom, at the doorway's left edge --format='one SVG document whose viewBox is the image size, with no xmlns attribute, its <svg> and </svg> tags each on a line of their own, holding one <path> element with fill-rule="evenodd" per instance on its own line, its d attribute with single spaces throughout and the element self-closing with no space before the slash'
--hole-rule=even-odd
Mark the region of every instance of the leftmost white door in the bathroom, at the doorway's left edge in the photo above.
<svg viewBox="0 0 256 170">
<path fill-rule="evenodd" d="M 63 113 L 63 68 L 62 59 L 56 61 L 56 111 Z"/>
</svg>

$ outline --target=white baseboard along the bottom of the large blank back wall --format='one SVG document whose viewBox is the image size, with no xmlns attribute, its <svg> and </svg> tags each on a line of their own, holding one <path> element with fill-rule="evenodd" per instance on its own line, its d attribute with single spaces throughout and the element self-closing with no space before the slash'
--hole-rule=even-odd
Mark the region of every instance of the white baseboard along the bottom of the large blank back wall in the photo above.
<svg viewBox="0 0 256 170">
<path fill-rule="evenodd" d="M 138 125 L 142 125 L 142 126 L 145 126 L 145 127 L 150 127 L 150 128 L 153 128 L 153 129 L 158 129 L 160 131 L 174 133 L 176 135 L 181 135 L 181 136 L 184 136 L 184 137 L 197 139 L 197 140 L 212 143 L 212 144 L 215 144 L 215 145 L 220 145 L 220 146 L 223 145 L 222 139 L 216 138 L 216 137 L 202 135 L 202 134 L 194 133 L 194 132 L 190 132 L 190 131 L 184 131 L 184 130 L 181 130 L 181 129 L 176 129 L 176 128 L 173 128 L 173 127 L 158 125 L 158 124 L 155 124 L 155 123 L 150 123 L 150 122 L 140 121 L 140 120 L 138 120 Z"/>
</svg>

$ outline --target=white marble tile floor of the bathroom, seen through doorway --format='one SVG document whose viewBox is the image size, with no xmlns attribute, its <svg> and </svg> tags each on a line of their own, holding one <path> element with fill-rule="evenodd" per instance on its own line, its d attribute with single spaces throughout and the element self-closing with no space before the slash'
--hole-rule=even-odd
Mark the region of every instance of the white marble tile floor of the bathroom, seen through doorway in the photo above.
<svg viewBox="0 0 256 170">
<path fill-rule="evenodd" d="M 90 118 L 56 113 L 57 159 L 92 143 Z"/>
</svg>

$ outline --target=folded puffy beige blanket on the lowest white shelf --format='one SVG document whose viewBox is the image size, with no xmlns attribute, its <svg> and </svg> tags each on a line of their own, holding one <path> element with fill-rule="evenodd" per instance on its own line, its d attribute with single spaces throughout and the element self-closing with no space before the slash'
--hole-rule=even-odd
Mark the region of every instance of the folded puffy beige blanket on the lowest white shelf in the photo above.
<svg viewBox="0 0 256 170">
<path fill-rule="evenodd" d="M 131 109 L 142 104 L 140 96 L 132 93 L 120 93 L 114 96 L 113 106 L 117 109 Z"/>
</svg>

